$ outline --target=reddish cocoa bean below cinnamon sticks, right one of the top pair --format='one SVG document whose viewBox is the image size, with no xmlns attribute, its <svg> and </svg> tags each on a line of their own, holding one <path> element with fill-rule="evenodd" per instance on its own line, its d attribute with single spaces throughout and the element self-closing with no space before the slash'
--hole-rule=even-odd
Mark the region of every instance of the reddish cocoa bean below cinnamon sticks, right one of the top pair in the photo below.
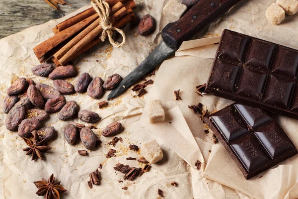
<svg viewBox="0 0 298 199">
<path fill-rule="evenodd" d="M 77 71 L 72 65 L 59 66 L 49 75 L 51 80 L 67 79 L 77 75 Z"/>
</svg>

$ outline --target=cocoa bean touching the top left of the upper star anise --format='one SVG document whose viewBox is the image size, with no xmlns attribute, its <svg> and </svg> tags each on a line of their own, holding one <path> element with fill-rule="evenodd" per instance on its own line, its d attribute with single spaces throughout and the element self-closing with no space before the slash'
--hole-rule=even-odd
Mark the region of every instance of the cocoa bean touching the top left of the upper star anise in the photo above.
<svg viewBox="0 0 298 199">
<path fill-rule="evenodd" d="M 20 137 L 30 137 L 32 136 L 31 132 L 40 128 L 40 122 L 38 119 L 24 119 L 19 128 L 18 135 Z"/>
</svg>

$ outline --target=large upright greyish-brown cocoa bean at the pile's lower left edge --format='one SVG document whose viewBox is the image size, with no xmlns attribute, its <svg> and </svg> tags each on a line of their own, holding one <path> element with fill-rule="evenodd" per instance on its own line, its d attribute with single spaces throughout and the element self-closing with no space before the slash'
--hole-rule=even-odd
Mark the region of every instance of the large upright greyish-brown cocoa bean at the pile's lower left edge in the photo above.
<svg viewBox="0 0 298 199">
<path fill-rule="evenodd" d="M 5 119 L 5 126 L 7 130 L 17 131 L 18 125 L 24 119 L 26 108 L 22 105 L 13 106 L 8 112 Z"/>
</svg>

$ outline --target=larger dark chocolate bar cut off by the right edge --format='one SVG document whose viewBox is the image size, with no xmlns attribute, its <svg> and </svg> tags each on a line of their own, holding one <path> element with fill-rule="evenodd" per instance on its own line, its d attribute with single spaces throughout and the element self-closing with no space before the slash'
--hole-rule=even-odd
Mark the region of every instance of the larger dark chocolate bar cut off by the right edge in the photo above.
<svg viewBox="0 0 298 199">
<path fill-rule="evenodd" d="M 298 50 L 224 30 L 206 93 L 298 119 Z"/>
</svg>

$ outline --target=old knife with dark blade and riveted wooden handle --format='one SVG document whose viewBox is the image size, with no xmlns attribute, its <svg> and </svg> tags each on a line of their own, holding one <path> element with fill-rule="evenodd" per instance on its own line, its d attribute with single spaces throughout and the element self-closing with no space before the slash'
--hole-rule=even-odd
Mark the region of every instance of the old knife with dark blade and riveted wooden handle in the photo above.
<svg viewBox="0 0 298 199">
<path fill-rule="evenodd" d="M 108 100 L 130 88 L 150 70 L 172 55 L 183 41 L 191 39 L 240 0 L 199 0 L 178 21 L 161 31 L 162 41 L 149 56 L 112 90 Z"/>
</svg>

